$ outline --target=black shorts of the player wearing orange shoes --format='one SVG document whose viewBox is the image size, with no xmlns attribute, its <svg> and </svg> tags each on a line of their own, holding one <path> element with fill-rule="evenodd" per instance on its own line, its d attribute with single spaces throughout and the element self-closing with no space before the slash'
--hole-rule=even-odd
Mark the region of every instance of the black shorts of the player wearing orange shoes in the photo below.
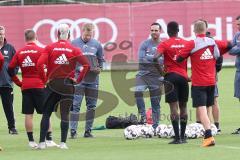
<svg viewBox="0 0 240 160">
<path fill-rule="evenodd" d="M 192 86 L 193 107 L 212 106 L 214 104 L 214 86 Z"/>
</svg>

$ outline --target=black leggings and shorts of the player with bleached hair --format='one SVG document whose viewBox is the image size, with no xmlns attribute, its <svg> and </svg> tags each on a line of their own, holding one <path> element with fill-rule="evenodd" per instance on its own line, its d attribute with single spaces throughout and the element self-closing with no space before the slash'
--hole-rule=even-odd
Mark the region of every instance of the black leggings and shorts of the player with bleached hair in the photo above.
<svg viewBox="0 0 240 160">
<path fill-rule="evenodd" d="M 49 128 L 49 119 L 53 111 L 56 111 L 57 117 L 61 119 L 61 142 L 66 142 L 73 94 L 74 86 L 70 79 L 54 79 L 48 83 L 40 126 L 40 142 L 45 141 Z"/>
</svg>

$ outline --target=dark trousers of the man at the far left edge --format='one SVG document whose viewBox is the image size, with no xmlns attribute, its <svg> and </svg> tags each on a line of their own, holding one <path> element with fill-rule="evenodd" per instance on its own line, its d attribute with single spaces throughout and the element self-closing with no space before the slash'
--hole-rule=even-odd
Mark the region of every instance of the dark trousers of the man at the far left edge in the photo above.
<svg viewBox="0 0 240 160">
<path fill-rule="evenodd" d="M 9 87 L 0 87 L 0 95 L 4 113 L 8 121 L 8 129 L 15 128 L 15 119 L 13 113 L 13 89 Z"/>
</svg>

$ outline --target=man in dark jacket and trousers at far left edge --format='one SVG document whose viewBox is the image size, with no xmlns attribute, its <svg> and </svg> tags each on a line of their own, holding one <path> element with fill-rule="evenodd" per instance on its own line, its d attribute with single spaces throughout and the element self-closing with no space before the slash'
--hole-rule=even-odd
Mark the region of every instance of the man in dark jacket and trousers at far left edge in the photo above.
<svg viewBox="0 0 240 160">
<path fill-rule="evenodd" d="M 12 79 L 7 73 L 8 64 L 12 60 L 16 51 L 14 47 L 9 44 L 5 38 L 5 28 L 0 26 L 0 48 L 2 56 L 4 57 L 4 64 L 2 71 L 0 71 L 0 95 L 5 116 L 8 122 L 9 134 L 18 134 L 15 128 L 15 118 L 13 111 L 13 84 Z M 18 68 L 16 68 L 15 73 Z"/>
</svg>

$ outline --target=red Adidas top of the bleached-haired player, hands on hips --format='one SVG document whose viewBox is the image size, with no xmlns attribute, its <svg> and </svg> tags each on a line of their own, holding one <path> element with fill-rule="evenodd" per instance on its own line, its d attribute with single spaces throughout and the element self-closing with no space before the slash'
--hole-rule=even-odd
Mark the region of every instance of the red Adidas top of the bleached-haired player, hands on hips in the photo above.
<svg viewBox="0 0 240 160">
<path fill-rule="evenodd" d="M 44 53 L 39 58 L 37 67 L 39 71 L 44 64 L 47 66 L 47 79 L 49 81 L 56 78 L 74 78 L 76 63 L 83 66 L 83 70 L 79 75 L 77 82 L 79 83 L 89 71 L 89 63 L 85 56 L 83 56 L 80 49 L 73 47 L 66 40 L 59 40 L 52 43 L 45 48 Z M 44 72 L 40 72 L 42 77 Z"/>
</svg>

